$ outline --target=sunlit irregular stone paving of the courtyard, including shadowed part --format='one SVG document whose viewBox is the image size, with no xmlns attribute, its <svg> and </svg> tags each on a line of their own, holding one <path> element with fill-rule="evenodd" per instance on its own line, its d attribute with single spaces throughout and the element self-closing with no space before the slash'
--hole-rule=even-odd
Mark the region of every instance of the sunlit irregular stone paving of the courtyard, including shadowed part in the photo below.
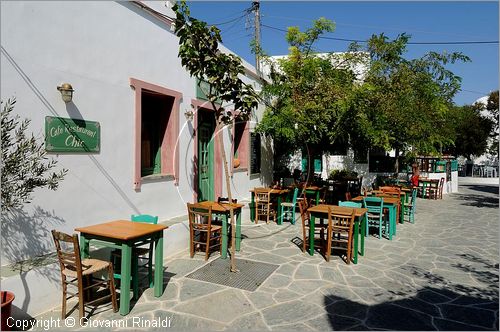
<svg viewBox="0 0 500 332">
<path fill-rule="evenodd" d="M 166 261 L 161 298 L 147 289 L 129 316 L 102 307 L 91 320 L 125 319 L 128 330 L 139 318 L 173 330 L 498 330 L 498 183 L 459 190 L 419 199 L 415 224 L 398 225 L 393 241 L 368 237 L 357 265 L 302 253 L 300 222 L 245 222 L 237 257 L 279 265 L 256 291 L 186 278 L 205 265 L 186 250 Z"/>
</svg>

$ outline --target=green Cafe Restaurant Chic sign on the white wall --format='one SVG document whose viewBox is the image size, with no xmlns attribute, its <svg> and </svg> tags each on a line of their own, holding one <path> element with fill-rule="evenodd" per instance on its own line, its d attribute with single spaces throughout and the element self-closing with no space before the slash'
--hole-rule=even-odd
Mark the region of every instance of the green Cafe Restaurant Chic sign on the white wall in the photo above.
<svg viewBox="0 0 500 332">
<path fill-rule="evenodd" d="M 99 152 L 99 122 L 45 117 L 45 149 L 47 152 Z"/>
</svg>

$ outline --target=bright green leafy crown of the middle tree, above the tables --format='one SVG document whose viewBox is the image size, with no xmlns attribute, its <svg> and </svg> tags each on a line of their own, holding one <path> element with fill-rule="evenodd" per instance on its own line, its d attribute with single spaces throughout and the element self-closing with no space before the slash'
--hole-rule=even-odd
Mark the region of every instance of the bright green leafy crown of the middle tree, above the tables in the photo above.
<svg viewBox="0 0 500 332">
<path fill-rule="evenodd" d="M 344 143 L 347 137 L 343 135 L 345 124 L 355 116 L 351 107 L 355 75 L 350 65 L 357 57 L 320 55 L 313 49 L 321 34 L 334 28 L 324 18 L 305 32 L 290 27 L 286 36 L 290 45 L 288 57 L 277 63 L 267 59 L 271 83 L 264 85 L 261 97 L 270 106 L 257 130 L 272 136 L 275 144 L 283 147 L 282 153 L 291 153 L 304 145 L 327 151 L 340 141 Z"/>
</svg>

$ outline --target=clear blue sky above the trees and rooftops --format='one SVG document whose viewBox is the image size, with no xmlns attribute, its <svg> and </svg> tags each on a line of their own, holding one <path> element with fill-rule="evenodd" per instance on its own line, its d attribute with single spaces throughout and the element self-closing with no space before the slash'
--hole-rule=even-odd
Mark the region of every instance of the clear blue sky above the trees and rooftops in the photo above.
<svg viewBox="0 0 500 332">
<path fill-rule="evenodd" d="M 224 45 L 254 64 L 249 43 L 253 38 L 253 13 L 245 15 L 251 1 L 189 2 L 192 16 L 210 24 L 219 24 Z M 394 38 L 406 32 L 410 42 L 498 41 L 498 2 L 340 2 L 340 1 L 262 1 L 262 47 L 269 55 L 288 52 L 286 29 L 311 26 L 319 17 L 336 23 L 336 30 L 325 36 L 367 40 L 372 34 L 384 32 Z M 269 27 L 266 27 L 269 26 Z M 345 51 L 349 42 L 321 40 L 319 51 Z M 408 45 L 406 57 L 420 57 L 428 51 L 462 52 L 472 62 L 451 65 L 462 77 L 462 91 L 455 97 L 459 105 L 473 103 L 481 96 L 498 89 L 498 44 L 472 45 Z"/>
</svg>

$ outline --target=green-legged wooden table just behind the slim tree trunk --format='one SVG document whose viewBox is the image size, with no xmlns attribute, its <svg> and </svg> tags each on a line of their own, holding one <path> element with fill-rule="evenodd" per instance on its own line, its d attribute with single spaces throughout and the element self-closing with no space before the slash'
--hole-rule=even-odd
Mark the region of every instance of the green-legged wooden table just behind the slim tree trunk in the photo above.
<svg viewBox="0 0 500 332">
<path fill-rule="evenodd" d="M 200 207 L 203 209 L 212 208 L 212 214 L 218 214 L 223 216 L 222 218 L 222 248 L 221 248 L 221 257 L 223 259 L 227 258 L 227 248 L 229 247 L 229 236 L 228 229 L 229 218 L 231 217 L 231 209 L 233 207 L 233 213 L 236 216 L 236 238 L 235 238 L 235 249 L 236 251 L 240 251 L 241 246 L 241 209 L 243 208 L 243 204 L 237 203 L 217 203 L 213 201 L 204 201 L 195 203 L 196 207 Z"/>
</svg>

